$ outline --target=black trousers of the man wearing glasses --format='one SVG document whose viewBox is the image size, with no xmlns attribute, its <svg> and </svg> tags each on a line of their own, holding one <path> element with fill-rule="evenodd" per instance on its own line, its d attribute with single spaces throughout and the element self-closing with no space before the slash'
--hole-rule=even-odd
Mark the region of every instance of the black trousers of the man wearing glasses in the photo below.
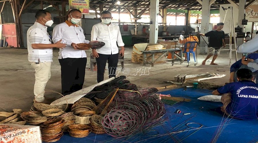
<svg viewBox="0 0 258 143">
<path fill-rule="evenodd" d="M 99 57 L 96 58 L 97 63 L 97 81 L 98 83 L 104 80 L 104 72 L 106 63 L 108 63 L 108 77 L 116 77 L 116 69 L 118 63 L 118 54 L 105 55 L 99 54 Z"/>
</svg>

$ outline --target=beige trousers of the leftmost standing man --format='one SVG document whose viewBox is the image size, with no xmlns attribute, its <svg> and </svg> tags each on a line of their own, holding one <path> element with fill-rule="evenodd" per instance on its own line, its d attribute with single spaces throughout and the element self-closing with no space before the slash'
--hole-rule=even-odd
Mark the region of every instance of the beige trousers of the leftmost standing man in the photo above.
<svg viewBox="0 0 258 143">
<path fill-rule="evenodd" d="M 36 64 L 35 62 L 30 62 L 30 64 L 35 69 L 35 84 L 34 84 L 35 100 L 37 102 L 43 102 L 45 100 L 44 92 L 45 92 L 46 83 L 51 77 L 51 73 L 50 73 L 51 62 L 40 62 L 39 64 Z"/>
</svg>

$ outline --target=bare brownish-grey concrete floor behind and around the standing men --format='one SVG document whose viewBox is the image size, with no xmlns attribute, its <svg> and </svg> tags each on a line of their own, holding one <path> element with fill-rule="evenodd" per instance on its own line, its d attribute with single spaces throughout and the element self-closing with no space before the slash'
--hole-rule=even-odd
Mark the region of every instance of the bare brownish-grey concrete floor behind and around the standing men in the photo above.
<svg viewBox="0 0 258 143">
<path fill-rule="evenodd" d="M 125 67 L 127 70 L 125 74 L 119 72 L 118 76 L 127 76 L 127 80 L 130 80 L 132 83 L 139 86 L 139 88 L 171 85 L 164 83 L 164 81 L 173 80 L 173 77 L 178 73 L 187 75 L 206 72 L 226 74 L 223 78 L 204 81 L 212 82 L 217 85 L 223 85 L 225 82 L 228 82 L 229 79 L 229 53 L 226 50 L 222 50 L 221 55 L 219 55 L 218 59 L 215 61 L 215 63 L 219 65 L 209 65 L 209 62 L 207 62 L 206 65 L 201 65 L 201 61 L 203 61 L 207 55 L 198 54 L 198 65 L 191 65 L 189 67 L 183 65 L 171 66 L 171 62 L 157 64 L 154 67 L 150 67 L 150 65 L 143 66 L 142 64 L 131 62 L 131 52 L 132 48 L 126 48 Z M 29 110 L 30 106 L 33 104 L 35 77 L 34 69 L 27 59 L 27 54 L 27 49 L 0 48 L 0 111 L 11 111 L 13 108 Z M 90 51 L 87 51 L 87 56 L 89 57 L 89 55 Z M 234 57 L 235 56 L 232 55 L 232 63 L 234 63 Z M 238 59 L 240 58 L 241 54 L 238 54 Z M 46 91 L 61 92 L 61 71 L 58 62 L 58 50 L 54 50 L 53 60 L 51 65 L 51 79 L 46 85 Z M 137 67 L 149 68 L 149 74 L 134 74 Z M 84 87 L 97 83 L 97 72 L 90 72 L 88 68 L 89 58 L 87 61 Z M 105 79 L 107 78 L 106 73 Z M 46 93 L 46 95 L 47 94 L 51 93 Z"/>
</svg>

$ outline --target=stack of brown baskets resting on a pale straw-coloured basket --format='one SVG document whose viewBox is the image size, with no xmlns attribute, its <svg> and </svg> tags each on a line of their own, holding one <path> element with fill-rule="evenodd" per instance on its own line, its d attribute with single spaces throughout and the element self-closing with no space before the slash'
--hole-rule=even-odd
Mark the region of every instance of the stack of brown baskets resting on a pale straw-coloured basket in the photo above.
<svg viewBox="0 0 258 143">
<path fill-rule="evenodd" d="M 71 108 L 75 115 L 75 124 L 89 124 L 92 115 L 96 114 L 92 109 L 96 108 L 95 103 L 88 98 L 81 98 Z"/>
</svg>

